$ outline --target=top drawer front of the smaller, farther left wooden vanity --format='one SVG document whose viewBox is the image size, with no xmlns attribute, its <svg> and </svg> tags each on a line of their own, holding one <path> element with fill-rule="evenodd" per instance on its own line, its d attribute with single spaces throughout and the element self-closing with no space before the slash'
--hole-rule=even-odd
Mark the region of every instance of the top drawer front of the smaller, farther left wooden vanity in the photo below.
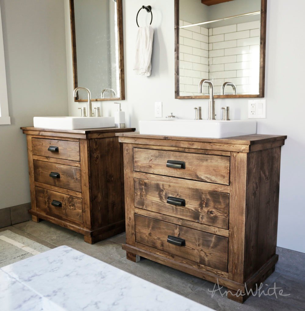
<svg viewBox="0 0 305 311">
<path fill-rule="evenodd" d="M 49 151 L 50 146 L 58 147 L 56 151 Z M 79 142 L 67 140 L 32 138 L 33 155 L 51 158 L 79 161 Z"/>
</svg>

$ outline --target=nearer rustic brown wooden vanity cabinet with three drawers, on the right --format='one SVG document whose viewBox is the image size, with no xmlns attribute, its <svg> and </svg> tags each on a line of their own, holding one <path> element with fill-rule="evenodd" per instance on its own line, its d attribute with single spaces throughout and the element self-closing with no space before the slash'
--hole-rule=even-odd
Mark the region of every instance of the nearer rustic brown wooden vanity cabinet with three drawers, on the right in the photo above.
<svg viewBox="0 0 305 311">
<path fill-rule="evenodd" d="M 286 136 L 223 139 L 120 133 L 127 258 L 228 287 L 243 302 L 275 268 Z"/>
</svg>

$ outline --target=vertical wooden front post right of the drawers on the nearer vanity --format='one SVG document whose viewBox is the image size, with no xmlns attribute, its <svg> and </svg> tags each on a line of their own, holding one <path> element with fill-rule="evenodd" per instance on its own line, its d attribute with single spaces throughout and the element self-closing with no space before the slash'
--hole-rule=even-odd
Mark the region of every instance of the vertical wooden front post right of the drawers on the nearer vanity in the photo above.
<svg viewBox="0 0 305 311">
<path fill-rule="evenodd" d="M 247 153 L 231 152 L 229 203 L 229 280 L 244 281 Z"/>
</svg>

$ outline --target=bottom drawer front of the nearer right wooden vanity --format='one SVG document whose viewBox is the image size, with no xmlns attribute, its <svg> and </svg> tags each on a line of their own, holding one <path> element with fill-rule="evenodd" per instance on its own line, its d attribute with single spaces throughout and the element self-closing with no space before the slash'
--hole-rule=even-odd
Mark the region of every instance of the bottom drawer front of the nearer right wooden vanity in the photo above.
<svg viewBox="0 0 305 311">
<path fill-rule="evenodd" d="M 228 271 L 228 238 L 135 214 L 136 242 Z M 184 246 L 167 242 L 168 236 L 185 240 Z"/>
</svg>

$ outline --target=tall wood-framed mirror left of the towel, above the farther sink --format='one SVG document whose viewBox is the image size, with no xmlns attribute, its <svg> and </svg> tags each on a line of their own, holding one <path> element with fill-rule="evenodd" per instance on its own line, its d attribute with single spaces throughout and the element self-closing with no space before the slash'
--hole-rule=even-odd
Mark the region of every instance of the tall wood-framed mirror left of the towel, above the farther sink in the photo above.
<svg viewBox="0 0 305 311">
<path fill-rule="evenodd" d="M 70 0 L 70 13 L 74 88 L 92 100 L 124 99 L 121 0 Z"/>
</svg>

